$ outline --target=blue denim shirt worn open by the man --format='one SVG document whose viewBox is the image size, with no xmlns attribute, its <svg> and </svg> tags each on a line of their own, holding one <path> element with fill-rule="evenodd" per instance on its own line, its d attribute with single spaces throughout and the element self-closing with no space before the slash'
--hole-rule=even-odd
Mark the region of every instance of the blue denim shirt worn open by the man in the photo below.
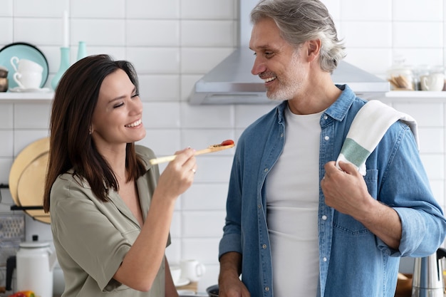
<svg viewBox="0 0 446 297">
<path fill-rule="evenodd" d="M 366 103 L 348 85 L 338 88 L 343 90 L 340 97 L 321 115 L 319 179 L 323 165 L 338 157 L 353 118 Z M 274 296 L 264 185 L 288 136 L 286 105 L 281 103 L 247 127 L 232 164 L 219 256 L 229 251 L 242 254 L 242 281 L 251 296 Z M 403 226 L 399 249 L 390 249 L 353 217 L 328 207 L 319 187 L 317 296 L 393 297 L 399 257 L 428 256 L 445 239 L 446 220 L 407 125 L 398 121 L 389 128 L 366 167 L 370 195 L 398 212 Z"/>
</svg>

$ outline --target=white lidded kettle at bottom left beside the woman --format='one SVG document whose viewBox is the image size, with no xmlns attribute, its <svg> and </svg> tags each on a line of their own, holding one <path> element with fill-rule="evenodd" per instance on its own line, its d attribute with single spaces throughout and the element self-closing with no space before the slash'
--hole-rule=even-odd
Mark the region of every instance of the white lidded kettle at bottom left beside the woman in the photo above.
<svg viewBox="0 0 446 297">
<path fill-rule="evenodd" d="M 56 252 L 49 243 L 22 242 L 16 254 L 16 291 L 31 290 L 36 296 L 53 297 L 54 266 Z"/>
</svg>

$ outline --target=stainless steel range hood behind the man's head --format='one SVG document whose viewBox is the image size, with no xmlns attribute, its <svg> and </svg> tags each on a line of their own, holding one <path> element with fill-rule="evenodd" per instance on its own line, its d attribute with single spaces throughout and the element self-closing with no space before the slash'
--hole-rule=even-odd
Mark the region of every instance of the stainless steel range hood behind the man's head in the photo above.
<svg viewBox="0 0 446 297">
<path fill-rule="evenodd" d="M 239 1 L 241 46 L 195 83 L 190 104 L 276 104 L 266 98 L 263 80 L 251 74 L 254 55 L 248 47 L 251 36 L 249 13 L 257 1 Z M 348 84 L 364 99 L 378 98 L 390 90 L 388 81 L 345 61 L 333 71 L 332 78 L 336 84 Z"/>
</svg>

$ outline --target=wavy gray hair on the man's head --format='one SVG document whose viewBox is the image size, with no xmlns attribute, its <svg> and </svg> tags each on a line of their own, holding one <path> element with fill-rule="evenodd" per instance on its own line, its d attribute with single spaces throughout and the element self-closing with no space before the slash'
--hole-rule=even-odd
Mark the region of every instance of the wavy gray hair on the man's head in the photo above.
<svg viewBox="0 0 446 297">
<path fill-rule="evenodd" d="M 271 18 L 281 31 L 281 37 L 298 48 L 305 41 L 321 40 L 321 69 L 333 72 L 345 56 L 345 46 L 331 15 L 318 0 L 261 0 L 251 11 L 251 23 Z"/>
</svg>

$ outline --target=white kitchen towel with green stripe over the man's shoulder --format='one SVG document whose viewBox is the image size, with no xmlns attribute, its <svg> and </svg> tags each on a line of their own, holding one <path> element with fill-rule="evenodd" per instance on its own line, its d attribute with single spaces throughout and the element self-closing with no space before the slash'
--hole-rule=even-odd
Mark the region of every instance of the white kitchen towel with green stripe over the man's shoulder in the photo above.
<svg viewBox="0 0 446 297">
<path fill-rule="evenodd" d="M 397 120 L 405 122 L 410 127 L 418 146 L 417 122 L 410 115 L 401 113 L 378 100 L 370 100 L 353 119 L 341 153 L 336 160 L 336 167 L 341 169 L 339 161 L 351 163 L 365 175 L 365 160 L 375 150 L 390 125 Z M 418 150 L 420 150 L 419 146 Z"/>
</svg>

